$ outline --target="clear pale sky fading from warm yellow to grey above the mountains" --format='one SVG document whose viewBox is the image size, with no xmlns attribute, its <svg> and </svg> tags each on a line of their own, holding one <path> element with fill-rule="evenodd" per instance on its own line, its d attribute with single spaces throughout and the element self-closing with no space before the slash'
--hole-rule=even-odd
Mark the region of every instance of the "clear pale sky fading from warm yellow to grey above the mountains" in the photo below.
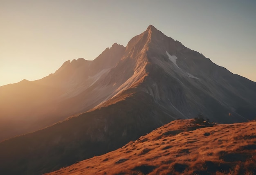
<svg viewBox="0 0 256 175">
<path fill-rule="evenodd" d="M 0 0 L 0 86 L 94 60 L 148 25 L 256 81 L 255 0 Z"/>
</svg>

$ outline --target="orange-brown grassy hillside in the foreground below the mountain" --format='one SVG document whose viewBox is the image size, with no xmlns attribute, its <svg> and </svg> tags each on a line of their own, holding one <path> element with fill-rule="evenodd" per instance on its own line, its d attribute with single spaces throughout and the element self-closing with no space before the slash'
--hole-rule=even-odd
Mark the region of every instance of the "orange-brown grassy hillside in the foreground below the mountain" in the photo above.
<svg viewBox="0 0 256 175">
<path fill-rule="evenodd" d="M 45 175 L 256 173 L 256 122 L 175 120 L 110 153 Z M 246 133 L 246 134 L 245 134 Z"/>
</svg>

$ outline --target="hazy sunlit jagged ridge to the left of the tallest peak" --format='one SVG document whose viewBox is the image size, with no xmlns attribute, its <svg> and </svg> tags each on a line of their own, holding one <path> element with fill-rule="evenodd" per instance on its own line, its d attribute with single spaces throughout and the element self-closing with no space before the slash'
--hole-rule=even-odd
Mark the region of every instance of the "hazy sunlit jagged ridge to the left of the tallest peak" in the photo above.
<svg viewBox="0 0 256 175">
<path fill-rule="evenodd" d="M 119 82 L 111 87 L 97 85 L 121 59 L 124 49 L 115 43 L 94 61 L 69 60 L 43 79 L 1 86 L 0 141 L 47 127 L 110 98 Z"/>
</svg>

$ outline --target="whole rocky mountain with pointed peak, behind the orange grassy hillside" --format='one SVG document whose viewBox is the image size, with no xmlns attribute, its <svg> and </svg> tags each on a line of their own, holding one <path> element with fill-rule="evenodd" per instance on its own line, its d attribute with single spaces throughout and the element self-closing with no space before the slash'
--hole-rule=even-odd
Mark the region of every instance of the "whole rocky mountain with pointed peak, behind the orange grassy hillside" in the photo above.
<svg viewBox="0 0 256 175">
<path fill-rule="evenodd" d="M 103 54 L 114 46 L 120 50 L 117 56 Z M 255 82 L 232 74 L 152 25 L 126 47 L 112 47 L 94 61 L 66 62 L 54 74 L 31 82 L 56 88 L 49 94 L 52 101 L 45 100 L 48 108 L 37 106 L 44 114 L 35 123 L 81 114 L 0 142 L 0 173 L 51 172 L 120 148 L 175 119 L 199 115 L 236 123 L 256 116 Z M 25 116 L 30 122 L 35 115 Z"/>
</svg>

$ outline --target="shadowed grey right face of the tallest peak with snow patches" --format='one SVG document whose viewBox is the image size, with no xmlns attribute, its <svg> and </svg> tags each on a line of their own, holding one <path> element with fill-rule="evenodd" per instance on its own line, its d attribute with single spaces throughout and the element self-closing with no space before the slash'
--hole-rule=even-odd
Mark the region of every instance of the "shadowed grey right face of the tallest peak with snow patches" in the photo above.
<svg viewBox="0 0 256 175">
<path fill-rule="evenodd" d="M 143 86 L 157 103 L 180 118 L 200 113 L 220 123 L 254 118 L 255 82 L 232 74 L 153 26 L 147 31 L 149 63 Z"/>
</svg>

